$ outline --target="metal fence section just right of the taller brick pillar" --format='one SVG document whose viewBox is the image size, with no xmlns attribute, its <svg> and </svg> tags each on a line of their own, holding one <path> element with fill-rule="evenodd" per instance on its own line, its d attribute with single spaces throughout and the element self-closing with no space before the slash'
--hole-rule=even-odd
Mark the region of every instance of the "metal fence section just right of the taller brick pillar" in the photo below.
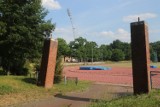
<svg viewBox="0 0 160 107">
<path fill-rule="evenodd" d="M 160 71 L 151 71 L 151 88 L 160 89 Z"/>
</svg>

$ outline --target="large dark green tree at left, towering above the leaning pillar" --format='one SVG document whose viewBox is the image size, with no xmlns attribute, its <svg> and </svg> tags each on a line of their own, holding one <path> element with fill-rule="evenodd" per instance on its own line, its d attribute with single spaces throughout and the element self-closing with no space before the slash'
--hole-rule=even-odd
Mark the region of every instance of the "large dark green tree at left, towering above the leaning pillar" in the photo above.
<svg viewBox="0 0 160 107">
<path fill-rule="evenodd" d="M 0 56 L 2 67 L 23 74 L 26 60 L 40 58 L 44 32 L 54 29 L 45 21 L 41 0 L 0 0 Z"/>
</svg>

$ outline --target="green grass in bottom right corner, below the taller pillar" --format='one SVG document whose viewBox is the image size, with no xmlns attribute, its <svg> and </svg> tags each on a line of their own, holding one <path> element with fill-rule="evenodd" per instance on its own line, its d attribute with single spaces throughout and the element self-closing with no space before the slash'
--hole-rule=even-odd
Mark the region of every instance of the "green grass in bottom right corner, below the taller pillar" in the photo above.
<svg viewBox="0 0 160 107">
<path fill-rule="evenodd" d="M 150 94 L 93 102 L 89 107 L 160 107 L 160 91 L 154 90 Z"/>
</svg>

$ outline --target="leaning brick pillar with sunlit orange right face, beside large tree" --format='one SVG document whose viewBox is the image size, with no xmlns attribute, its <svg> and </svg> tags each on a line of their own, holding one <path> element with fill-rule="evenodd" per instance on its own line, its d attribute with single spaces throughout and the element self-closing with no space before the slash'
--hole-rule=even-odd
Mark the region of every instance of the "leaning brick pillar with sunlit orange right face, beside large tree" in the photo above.
<svg viewBox="0 0 160 107">
<path fill-rule="evenodd" d="M 46 39 L 44 41 L 41 68 L 38 76 L 38 85 L 51 88 L 54 81 L 58 41 Z"/>
</svg>

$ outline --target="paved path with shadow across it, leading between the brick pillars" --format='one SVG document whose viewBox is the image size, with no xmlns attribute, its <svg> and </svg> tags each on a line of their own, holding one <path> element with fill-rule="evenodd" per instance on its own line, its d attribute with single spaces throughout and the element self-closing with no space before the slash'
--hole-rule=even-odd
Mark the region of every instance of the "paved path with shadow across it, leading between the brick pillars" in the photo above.
<svg viewBox="0 0 160 107">
<path fill-rule="evenodd" d="M 48 99 L 19 105 L 19 107 L 87 107 L 91 101 L 111 100 L 132 93 L 132 87 L 93 84 L 84 92 L 57 94 Z"/>
</svg>

